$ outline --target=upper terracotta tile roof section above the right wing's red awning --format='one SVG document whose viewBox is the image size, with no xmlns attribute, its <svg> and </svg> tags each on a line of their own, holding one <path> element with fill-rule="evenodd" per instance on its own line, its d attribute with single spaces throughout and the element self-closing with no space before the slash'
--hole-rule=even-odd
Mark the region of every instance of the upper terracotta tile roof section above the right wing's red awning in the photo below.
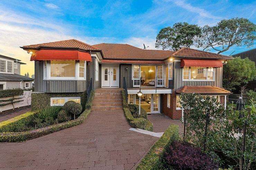
<svg viewBox="0 0 256 170">
<path fill-rule="evenodd" d="M 232 59 L 229 56 L 223 56 L 221 54 L 216 54 L 207 51 L 195 50 L 192 48 L 182 48 L 175 51 L 172 56 L 175 57 L 184 57 L 184 58 L 214 58 L 214 59 Z"/>
</svg>

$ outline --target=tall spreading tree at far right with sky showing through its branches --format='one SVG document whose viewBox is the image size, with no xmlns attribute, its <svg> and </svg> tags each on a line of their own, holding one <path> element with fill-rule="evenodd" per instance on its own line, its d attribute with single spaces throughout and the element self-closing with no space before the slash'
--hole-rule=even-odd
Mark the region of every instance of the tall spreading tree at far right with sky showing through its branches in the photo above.
<svg viewBox="0 0 256 170">
<path fill-rule="evenodd" d="M 232 46 L 252 47 L 254 44 L 256 25 L 245 18 L 223 19 L 216 26 L 202 28 L 202 36 L 197 39 L 196 46 L 203 50 L 216 50 L 219 53 Z"/>
</svg>

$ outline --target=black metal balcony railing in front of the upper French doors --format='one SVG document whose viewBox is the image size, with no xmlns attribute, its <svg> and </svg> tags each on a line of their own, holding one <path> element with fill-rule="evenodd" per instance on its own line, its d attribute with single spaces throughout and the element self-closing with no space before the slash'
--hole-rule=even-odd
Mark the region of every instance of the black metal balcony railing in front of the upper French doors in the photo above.
<svg viewBox="0 0 256 170">
<path fill-rule="evenodd" d="M 124 77 L 127 88 L 169 88 L 173 89 L 172 77 Z"/>
</svg>

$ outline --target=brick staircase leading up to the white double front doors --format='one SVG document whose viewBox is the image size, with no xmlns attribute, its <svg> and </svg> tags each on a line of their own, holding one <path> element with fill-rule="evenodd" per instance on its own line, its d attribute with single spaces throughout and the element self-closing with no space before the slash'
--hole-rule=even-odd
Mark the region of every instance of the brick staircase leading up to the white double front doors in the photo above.
<svg viewBox="0 0 256 170">
<path fill-rule="evenodd" d="M 99 88 L 95 90 L 93 111 L 122 110 L 121 88 Z"/>
</svg>

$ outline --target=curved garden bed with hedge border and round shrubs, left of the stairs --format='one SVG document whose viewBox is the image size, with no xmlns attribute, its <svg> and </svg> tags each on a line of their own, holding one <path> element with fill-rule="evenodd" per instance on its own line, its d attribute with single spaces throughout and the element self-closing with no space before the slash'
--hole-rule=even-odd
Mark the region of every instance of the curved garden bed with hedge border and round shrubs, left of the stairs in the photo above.
<svg viewBox="0 0 256 170">
<path fill-rule="evenodd" d="M 3 121 L 0 141 L 24 141 L 81 124 L 91 111 L 93 96 L 94 91 L 84 106 L 67 101 L 64 106 L 48 106 Z"/>
</svg>

